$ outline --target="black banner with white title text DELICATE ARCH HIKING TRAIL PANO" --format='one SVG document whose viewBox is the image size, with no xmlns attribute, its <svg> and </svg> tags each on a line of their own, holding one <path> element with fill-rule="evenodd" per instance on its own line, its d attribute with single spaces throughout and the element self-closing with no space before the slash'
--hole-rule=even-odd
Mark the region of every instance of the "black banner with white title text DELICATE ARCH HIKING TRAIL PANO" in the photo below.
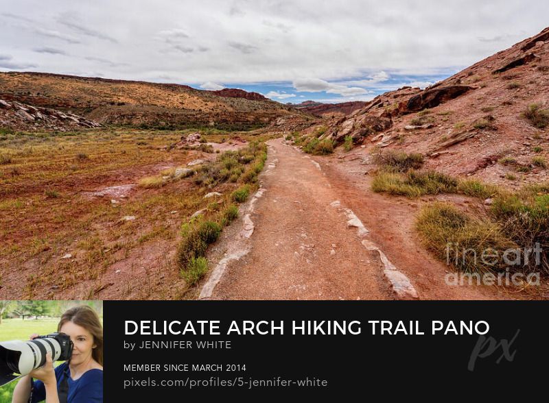
<svg viewBox="0 0 549 403">
<path fill-rule="evenodd" d="M 384 384 L 394 398 L 425 382 L 445 384 L 452 395 L 463 385 L 467 395 L 493 380 L 538 382 L 544 375 L 535 370 L 537 363 L 549 358 L 548 307 L 545 302 L 104 302 L 105 397 L 323 398 Z"/>
</svg>

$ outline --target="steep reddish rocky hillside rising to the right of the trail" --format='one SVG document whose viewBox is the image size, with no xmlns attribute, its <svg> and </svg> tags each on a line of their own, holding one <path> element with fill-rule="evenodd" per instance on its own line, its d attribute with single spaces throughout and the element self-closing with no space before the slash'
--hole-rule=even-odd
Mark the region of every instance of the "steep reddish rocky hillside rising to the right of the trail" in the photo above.
<svg viewBox="0 0 549 403">
<path fill-rule="evenodd" d="M 519 186 L 549 180 L 549 28 L 425 90 L 379 95 L 320 138 L 424 154 L 425 167 Z M 314 134 L 314 128 L 309 131 Z M 318 133 L 318 130 L 316 131 Z"/>
</svg>

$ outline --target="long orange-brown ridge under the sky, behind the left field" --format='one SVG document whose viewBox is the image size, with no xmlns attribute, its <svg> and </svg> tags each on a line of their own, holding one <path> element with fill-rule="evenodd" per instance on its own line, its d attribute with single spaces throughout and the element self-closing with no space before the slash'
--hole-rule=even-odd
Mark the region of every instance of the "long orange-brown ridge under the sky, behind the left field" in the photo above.
<svg viewBox="0 0 549 403">
<path fill-rule="evenodd" d="M 246 129 L 301 114 L 258 95 L 231 89 L 196 90 L 178 84 L 0 73 L 0 99 L 72 112 L 106 124 Z"/>
</svg>

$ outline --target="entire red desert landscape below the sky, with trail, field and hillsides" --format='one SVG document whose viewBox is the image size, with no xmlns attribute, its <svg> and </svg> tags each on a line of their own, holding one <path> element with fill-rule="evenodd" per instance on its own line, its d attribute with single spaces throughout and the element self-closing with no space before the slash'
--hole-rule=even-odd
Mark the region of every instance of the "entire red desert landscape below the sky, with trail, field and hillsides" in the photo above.
<svg viewBox="0 0 549 403">
<path fill-rule="evenodd" d="M 347 103 L 0 73 L 0 294 L 547 299 L 548 94 L 549 28 Z"/>
</svg>

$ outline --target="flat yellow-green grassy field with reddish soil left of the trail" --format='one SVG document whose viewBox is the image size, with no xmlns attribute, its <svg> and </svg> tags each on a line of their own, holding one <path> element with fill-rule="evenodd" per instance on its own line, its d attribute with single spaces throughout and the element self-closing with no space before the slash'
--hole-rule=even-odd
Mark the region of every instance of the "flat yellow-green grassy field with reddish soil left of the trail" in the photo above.
<svg viewBox="0 0 549 403">
<path fill-rule="evenodd" d="M 240 183 L 198 183 L 194 175 L 139 184 L 162 181 L 197 158 L 215 160 L 226 147 L 243 147 L 235 137 L 264 140 L 209 130 L 204 140 L 223 143 L 219 153 L 172 147 L 188 132 L 0 132 L 3 298 L 182 297 L 185 281 L 175 256 L 181 224 L 205 207 L 205 194 L 229 194 Z M 129 187 L 125 195 L 96 195 L 120 185 Z"/>
</svg>

